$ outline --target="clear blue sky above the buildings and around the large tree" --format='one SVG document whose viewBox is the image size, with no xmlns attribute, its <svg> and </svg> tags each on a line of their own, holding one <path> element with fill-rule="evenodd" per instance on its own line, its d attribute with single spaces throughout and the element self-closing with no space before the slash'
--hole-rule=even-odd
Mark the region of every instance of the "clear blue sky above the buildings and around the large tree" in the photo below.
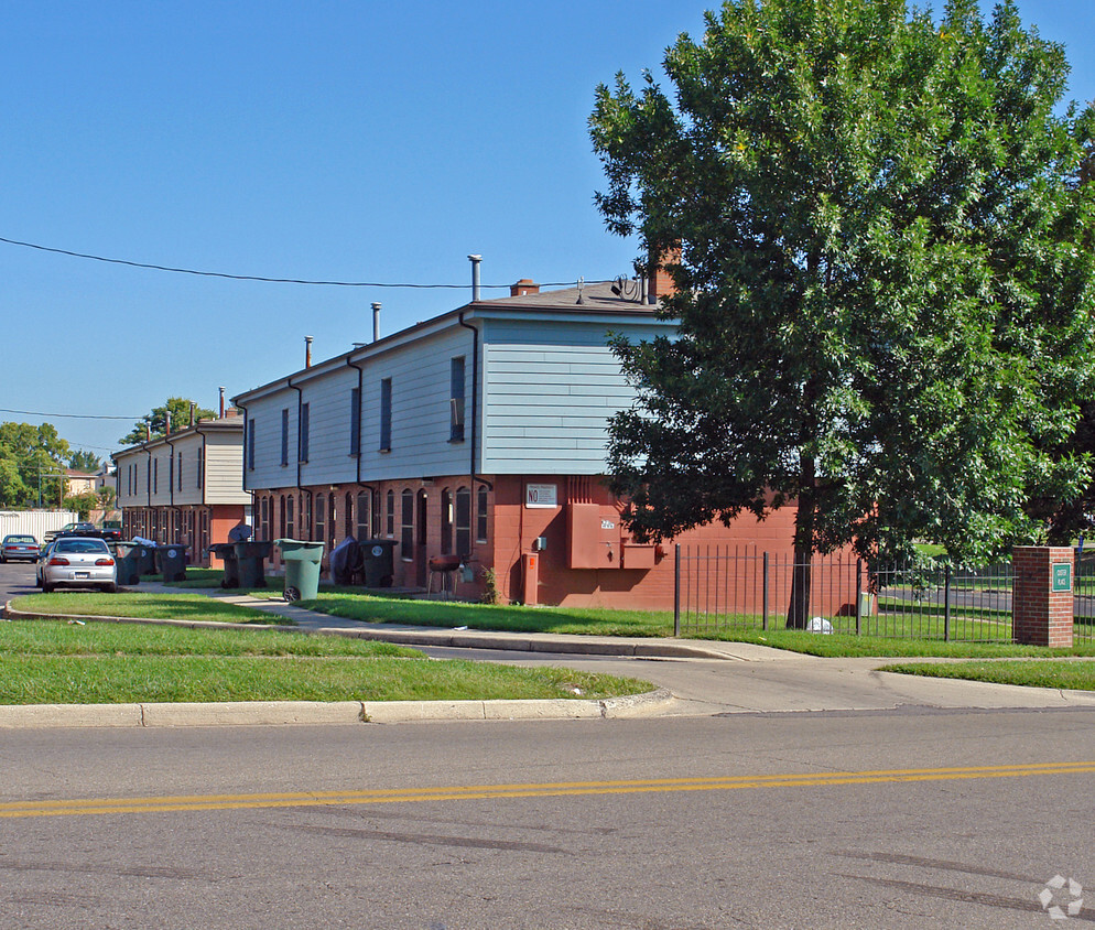
<svg viewBox="0 0 1095 930">
<path fill-rule="evenodd" d="M 709 6 L 8 0 L 0 237 L 275 278 L 466 284 L 469 252 L 490 284 L 614 278 L 633 246 L 593 204 L 594 88 L 657 72 Z M 1019 7 L 1095 98 L 1095 2 Z M 317 359 L 368 340 L 372 301 L 388 334 L 467 299 L 0 244 L 0 420 L 106 457 L 169 396 L 216 408 L 302 367 L 305 335 Z"/>
</svg>

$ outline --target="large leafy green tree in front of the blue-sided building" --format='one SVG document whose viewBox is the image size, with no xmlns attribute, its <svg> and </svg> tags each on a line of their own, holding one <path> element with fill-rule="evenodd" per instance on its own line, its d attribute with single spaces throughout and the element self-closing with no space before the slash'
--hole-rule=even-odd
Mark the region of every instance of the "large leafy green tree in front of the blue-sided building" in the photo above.
<svg viewBox="0 0 1095 930">
<path fill-rule="evenodd" d="M 1088 463 L 1089 113 L 1010 0 L 728 0 L 702 41 L 597 90 L 608 228 L 675 256 L 675 338 L 615 343 L 610 424 L 641 538 L 796 505 L 795 551 L 1044 537 Z M 677 251 L 679 250 L 679 251 Z M 788 623 L 802 626 L 809 571 Z"/>
</svg>

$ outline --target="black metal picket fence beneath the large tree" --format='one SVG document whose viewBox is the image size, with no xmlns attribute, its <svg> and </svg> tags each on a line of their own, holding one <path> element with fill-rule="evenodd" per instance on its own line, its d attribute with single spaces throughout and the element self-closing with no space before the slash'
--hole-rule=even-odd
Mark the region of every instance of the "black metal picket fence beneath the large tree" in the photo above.
<svg viewBox="0 0 1095 930">
<path fill-rule="evenodd" d="M 1013 638 L 1010 562 L 965 569 L 868 564 L 835 554 L 814 556 L 806 566 L 788 554 L 714 543 L 677 545 L 675 558 L 677 635 L 781 629 L 795 597 L 794 613 L 816 631 L 963 642 Z M 1077 573 L 1076 592 L 1076 638 L 1093 638 L 1095 562 L 1086 584 Z"/>
</svg>

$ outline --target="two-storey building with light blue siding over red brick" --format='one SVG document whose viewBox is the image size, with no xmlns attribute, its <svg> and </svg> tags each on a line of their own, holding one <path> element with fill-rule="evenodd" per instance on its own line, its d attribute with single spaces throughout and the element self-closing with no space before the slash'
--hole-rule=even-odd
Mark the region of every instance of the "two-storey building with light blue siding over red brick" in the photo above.
<svg viewBox="0 0 1095 930">
<path fill-rule="evenodd" d="M 608 418 L 635 397 L 608 334 L 671 334 L 652 311 L 607 284 L 523 280 L 239 394 L 259 538 L 391 540 L 397 585 L 459 564 L 464 597 L 671 608 L 671 547 L 633 541 L 603 480 Z M 792 525 L 681 541 L 789 553 Z"/>
</svg>

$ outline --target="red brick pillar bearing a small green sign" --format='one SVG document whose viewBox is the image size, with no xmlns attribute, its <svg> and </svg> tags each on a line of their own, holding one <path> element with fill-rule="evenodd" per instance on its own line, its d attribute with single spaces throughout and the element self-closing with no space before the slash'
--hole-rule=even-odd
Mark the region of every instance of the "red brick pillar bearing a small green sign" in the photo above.
<svg viewBox="0 0 1095 930">
<path fill-rule="evenodd" d="M 1072 548 L 1019 545 L 1012 550 L 1011 564 L 1015 573 L 1011 614 L 1016 642 L 1071 647 Z"/>
</svg>

